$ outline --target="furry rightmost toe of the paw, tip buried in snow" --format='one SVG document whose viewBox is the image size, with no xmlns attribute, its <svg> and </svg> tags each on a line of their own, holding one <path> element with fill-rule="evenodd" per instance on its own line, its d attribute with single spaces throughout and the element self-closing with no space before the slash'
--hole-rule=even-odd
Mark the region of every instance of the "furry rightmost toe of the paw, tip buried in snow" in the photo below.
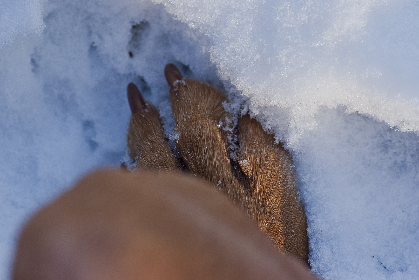
<svg viewBox="0 0 419 280">
<path fill-rule="evenodd" d="M 237 158 L 251 185 L 248 212 L 284 254 L 308 264 L 307 222 L 292 159 L 249 115 L 238 124 Z"/>
</svg>

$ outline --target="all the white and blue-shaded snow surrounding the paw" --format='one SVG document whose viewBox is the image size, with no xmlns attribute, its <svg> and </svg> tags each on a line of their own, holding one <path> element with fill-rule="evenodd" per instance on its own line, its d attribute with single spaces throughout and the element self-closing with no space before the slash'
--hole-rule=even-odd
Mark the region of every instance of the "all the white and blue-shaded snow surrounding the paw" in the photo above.
<svg viewBox="0 0 419 280">
<path fill-rule="evenodd" d="M 314 273 L 417 279 L 417 1 L 153 1 L 0 1 L 0 279 L 36 209 L 126 157 L 129 82 L 170 136 L 167 63 L 290 149 Z"/>
</svg>

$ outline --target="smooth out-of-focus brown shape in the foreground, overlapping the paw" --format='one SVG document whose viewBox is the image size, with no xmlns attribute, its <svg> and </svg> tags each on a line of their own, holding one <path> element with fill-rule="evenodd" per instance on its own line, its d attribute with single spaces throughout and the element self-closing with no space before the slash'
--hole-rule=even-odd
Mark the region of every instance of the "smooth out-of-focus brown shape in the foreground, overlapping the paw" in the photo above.
<svg viewBox="0 0 419 280">
<path fill-rule="evenodd" d="M 13 280 L 316 280 L 179 174 L 96 171 L 24 227 Z"/>
</svg>

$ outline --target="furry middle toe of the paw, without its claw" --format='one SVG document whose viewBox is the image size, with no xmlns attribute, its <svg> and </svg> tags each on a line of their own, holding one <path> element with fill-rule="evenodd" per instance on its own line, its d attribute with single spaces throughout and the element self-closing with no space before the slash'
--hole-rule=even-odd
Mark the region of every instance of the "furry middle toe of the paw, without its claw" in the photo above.
<svg viewBox="0 0 419 280">
<path fill-rule="evenodd" d="M 185 79 L 170 90 L 170 98 L 175 130 L 180 133 L 177 146 L 186 167 L 242 206 L 248 192 L 230 168 L 227 133 L 218 127 L 220 122 L 220 127 L 228 125 L 230 117 L 222 106 L 225 96 L 207 84 Z"/>
</svg>

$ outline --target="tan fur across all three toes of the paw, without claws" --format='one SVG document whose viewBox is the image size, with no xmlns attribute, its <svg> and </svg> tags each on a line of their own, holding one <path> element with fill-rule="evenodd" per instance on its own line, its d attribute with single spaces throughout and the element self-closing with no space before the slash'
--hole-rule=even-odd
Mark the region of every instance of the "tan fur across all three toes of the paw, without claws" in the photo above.
<svg viewBox="0 0 419 280">
<path fill-rule="evenodd" d="M 231 116 L 222 106 L 226 100 L 222 92 L 197 80 L 184 79 L 171 88 L 170 96 L 175 131 L 180 133 L 177 146 L 187 169 L 243 208 L 281 252 L 307 264 L 307 223 L 289 153 L 276 145 L 273 136 L 266 134 L 259 123 L 243 116 L 238 125 L 240 150 L 237 157 L 249 182 L 244 184 L 231 167 L 226 132 L 231 128 L 228 123 Z M 133 159 L 137 159 L 140 170 L 152 166 L 150 162 L 157 165 L 158 170 L 172 170 L 173 165 L 166 167 L 170 162 L 167 155 L 158 163 L 155 154 L 165 153 L 160 147 L 165 142 L 161 138 L 164 136 L 151 127 L 150 123 L 156 121 L 147 125 L 147 121 L 141 119 L 147 118 L 143 115 L 146 115 L 144 111 L 133 114 L 130 123 L 128 146 L 135 151 L 131 152 L 132 157 L 141 155 Z M 137 125 L 139 122 L 141 125 Z M 161 124 L 157 126 L 161 131 Z M 138 132 L 148 128 L 150 134 Z M 153 146 L 153 137 L 156 146 Z M 142 144 L 133 144 L 134 139 Z"/>
</svg>

